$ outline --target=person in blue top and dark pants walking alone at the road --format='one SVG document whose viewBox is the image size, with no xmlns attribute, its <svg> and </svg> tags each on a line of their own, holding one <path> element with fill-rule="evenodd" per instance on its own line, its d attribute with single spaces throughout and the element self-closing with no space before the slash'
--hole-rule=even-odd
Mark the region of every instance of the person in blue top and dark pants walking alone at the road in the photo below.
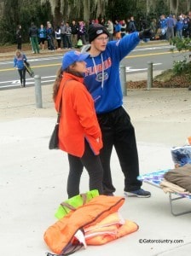
<svg viewBox="0 0 191 256">
<path fill-rule="evenodd" d="M 26 87 L 26 55 L 21 53 L 20 49 L 15 51 L 14 55 L 14 68 L 16 68 L 20 75 L 20 87 Z"/>
</svg>

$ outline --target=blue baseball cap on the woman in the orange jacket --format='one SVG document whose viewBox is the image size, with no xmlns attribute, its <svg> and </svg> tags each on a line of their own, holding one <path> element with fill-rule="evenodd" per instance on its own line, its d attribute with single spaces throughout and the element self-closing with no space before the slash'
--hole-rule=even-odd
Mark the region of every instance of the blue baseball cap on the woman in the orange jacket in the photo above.
<svg viewBox="0 0 191 256">
<path fill-rule="evenodd" d="M 62 58 L 61 68 L 67 69 L 70 65 L 77 61 L 85 61 L 89 57 L 89 54 L 81 54 L 78 50 L 68 51 Z"/>
</svg>

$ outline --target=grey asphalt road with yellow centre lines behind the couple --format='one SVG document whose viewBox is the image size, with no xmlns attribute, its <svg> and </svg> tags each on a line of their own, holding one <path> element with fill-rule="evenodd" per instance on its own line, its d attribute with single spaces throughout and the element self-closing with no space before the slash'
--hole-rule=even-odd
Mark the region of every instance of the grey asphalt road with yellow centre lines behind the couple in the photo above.
<svg viewBox="0 0 191 256">
<path fill-rule="evenodd" d="M 55 73 L 61 65 L 62 55 L 38 55 L 38 58 L 28 57 L 32 69 L 36 75 L 41 77 L 41 83 L 51 84 L 55 81 Z M 186 54 L 187 55 L 187 54 Z M 27 55 L 26 55 L 27 56 Z M 171 52 L 169 44 L 141 44 L 134 49 L 130 55 L 126 56 L 121 65 L 126 67 L 126 73 L 143 73 L 148 70 L 148 62 L 153 62 L 153 70 L 164 71 L 173 65 L 173 61 L 183 59 L 183 55 L 174 50 Z M 26 86 L 33 86 L 34 79 L 26 74 Z M 0 61 L 0 90 L 7 90 L 20 86 L 19 74 L 13 68 L 13 59 Z"/>
</svg>

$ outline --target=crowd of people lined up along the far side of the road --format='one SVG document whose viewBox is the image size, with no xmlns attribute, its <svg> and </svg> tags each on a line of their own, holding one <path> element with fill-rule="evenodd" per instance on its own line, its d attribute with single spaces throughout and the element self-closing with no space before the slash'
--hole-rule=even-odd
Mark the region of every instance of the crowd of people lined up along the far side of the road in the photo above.
<svg viewBox="0 0 191 256">
<path fill-rule="evenodd" d="M 45 42 L 49 50 L 80 48 L 89 44 L 87 30 L 90 24 L 99 23 L 107 27 L 109 40 L 123 38 L 125 34 L 142 31 L 146 28 L 152 30 L 152 37 L 148 40 L 170 40 L 171 38 L 191 38 L 191 11 L 187 15 L 160 15 L 158 19 L 147 20 L 141 18 L 135 20 L 134 16 L 126 20 L 104 20 L 96 19 L 85 22 L 84 20 L 72 22 L 61 21 L 61 24 L 53 26 L 47 21 L 44 26 L 31 24 L 29 38 L 33 53 L 39 53 L 45 49 Z M 18 25 L 16 31 L 17 49 L 22 45 L 22 27 Z"/>
</svg>

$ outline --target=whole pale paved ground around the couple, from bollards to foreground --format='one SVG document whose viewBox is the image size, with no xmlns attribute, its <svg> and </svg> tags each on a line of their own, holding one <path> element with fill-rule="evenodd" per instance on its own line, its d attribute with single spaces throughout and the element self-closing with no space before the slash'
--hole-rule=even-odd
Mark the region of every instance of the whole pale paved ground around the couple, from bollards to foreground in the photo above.
<svg viewBox="0 0 191 256">
<path fill-rule="evenodd" d="M 137 75 L 137 74 L 136 74 Z M 191 135 L 190 91 L 187 89 L 128 90 L 124 108 L 136 128 L 140 173 L 172 168 L 171 146 Z M 67 199 L 67 154 L 49 150 L 56 113 L 52 85 L 42 86 L 43 108 L 37 108 L 34 87 L 0 93 L 0 252 L 3 255 L 42 256 L 49 248 L 43 233 L 54 224 L 55 209 Z M 124 177 L 115 151 L 112 155 L 116 195 L 123 196 Z M 81 191 L 88 190 L 83 173 Z M 126 198 L 121 214 L 139 230 L 76 255 L 189 255 L 190 214 L 174 217 L 168 195 L 143 184 L 152 197 Z M 191 209 L 191 201 L 175 202 L 175 210 Z"/>
</svg>

